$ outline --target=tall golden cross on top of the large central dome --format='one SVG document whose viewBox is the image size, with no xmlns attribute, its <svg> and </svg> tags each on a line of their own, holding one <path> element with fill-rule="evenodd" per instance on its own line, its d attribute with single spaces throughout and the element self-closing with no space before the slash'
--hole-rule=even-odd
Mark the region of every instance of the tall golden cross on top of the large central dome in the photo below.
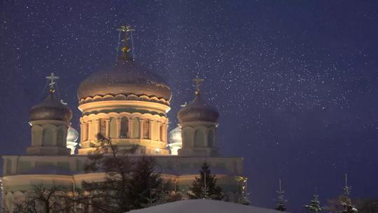
<svg viewBox="0 0 378 213">
<path fill-rule="evenodd" d="M 120 47 L 120 36 L 121 36 L 121 32 L 123 32 L 123 40 L 121 41 L 122 42 L 122 47 L 121 47 L 122 55 L 120 59 L 134 60 L 134 57 L 135 57 L 134 56 L 134 41 L 132 38 L 132 34 L 135 31 L 135 29 L 127 25 L 127 26 L 121 26 L 120 28 L 117 29 L 117 31 L 120 32 L 118 35 L 118 44 L 117 44 L 117 59 L 118 59 L 118 50 Z M 132 46 L 131 48 L 129 46 L 129 40 L 131 40 L 131 46 Z M 130 55 L 129 53 L 130 50 L 132 50 L 132 55 Z"/>
</svg>

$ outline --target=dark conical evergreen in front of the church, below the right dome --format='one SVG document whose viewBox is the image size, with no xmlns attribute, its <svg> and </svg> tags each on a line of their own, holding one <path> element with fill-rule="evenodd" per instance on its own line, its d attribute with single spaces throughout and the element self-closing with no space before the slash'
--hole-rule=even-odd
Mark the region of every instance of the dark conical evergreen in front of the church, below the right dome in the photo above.
<svg viewBox="0 0 378 213">
<path fill-rule="evenodd" d="M 205 162 L 200 170 L 200 177 L 195 177 L 190 186 L 188 196 L 190 199 L 224 200 L 223 188 L 216 184 L 216 176 L 211 174 L 209 165 Z"/>
</svg>

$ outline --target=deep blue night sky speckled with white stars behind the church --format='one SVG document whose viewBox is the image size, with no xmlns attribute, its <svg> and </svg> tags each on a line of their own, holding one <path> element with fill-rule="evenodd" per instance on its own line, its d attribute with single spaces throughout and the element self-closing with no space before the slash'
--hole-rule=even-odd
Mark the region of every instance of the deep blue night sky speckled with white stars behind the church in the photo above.
<svg viewBox="0 0 378 213">
<path fill-rule="evenodd" d="M 252 205 L 325 204 L 349 176 L 378 198 L 378 1 L 0 1 L 0 153 L 30 144 L 28 111 L 54 71 L 78 129 L 80 81 L 116 60 L 120 25 L 137 61 L 173 90 L 170 130 L 192 78 L 218 107 L 224 156 L 244 157 Z"/>
</svg>

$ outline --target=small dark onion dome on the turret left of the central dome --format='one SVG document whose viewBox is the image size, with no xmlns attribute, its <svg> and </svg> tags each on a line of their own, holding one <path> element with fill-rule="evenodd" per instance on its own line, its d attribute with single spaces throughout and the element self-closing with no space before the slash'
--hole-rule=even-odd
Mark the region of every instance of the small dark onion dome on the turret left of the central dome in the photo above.
<svg viewBox="0 0 378 213">
<path fill-rule="evenodd" d="M 66 105 L 57 100 L 52 92 L 41 103 L 31 107 L 29 111 L 30 121 L 57 120 L 71 121 L 72 111 Z"/>
</svg>

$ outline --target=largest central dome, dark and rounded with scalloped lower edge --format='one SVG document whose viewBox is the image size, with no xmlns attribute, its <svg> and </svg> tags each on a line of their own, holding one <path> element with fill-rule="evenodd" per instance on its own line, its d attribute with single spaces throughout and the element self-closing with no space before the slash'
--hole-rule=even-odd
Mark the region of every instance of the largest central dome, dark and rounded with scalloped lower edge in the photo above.
<svg viewBox="0 0 378 213">
<path fill-rule="evenodd" d="M 96 95 L 146 95 L 169 101 L 172 91 L 160 78 L 139 63 L 119 60 L 113 67 L 94 72 L 78 88 L 78 99 Z"/>
</svg>

